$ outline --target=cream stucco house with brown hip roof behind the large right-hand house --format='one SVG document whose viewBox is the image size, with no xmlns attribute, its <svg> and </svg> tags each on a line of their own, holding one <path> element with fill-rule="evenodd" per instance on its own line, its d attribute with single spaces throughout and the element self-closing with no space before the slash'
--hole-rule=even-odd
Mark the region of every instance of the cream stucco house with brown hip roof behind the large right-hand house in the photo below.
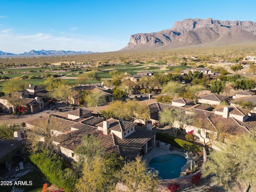
<svg viewBox="0 0 256 192">
<path fill-rule="evenodd" d="M 199 104 L 210 104 L 211 106 L 217 106 L 220 105 L 220 102 L 227 100 L 227 96 L 219 95 L 219 94 L 206 94 L 203 96 L 198 97 L 198 103 Z"/>
</svg>

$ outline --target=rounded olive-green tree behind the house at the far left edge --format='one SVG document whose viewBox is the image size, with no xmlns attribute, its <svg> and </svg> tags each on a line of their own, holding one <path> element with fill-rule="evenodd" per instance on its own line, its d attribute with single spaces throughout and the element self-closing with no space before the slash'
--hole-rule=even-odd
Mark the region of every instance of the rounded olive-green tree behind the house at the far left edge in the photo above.
<svg viewBox="0 0 256 192">
<path fill-rule="evenodd" d="M 24 91 L 28 87 L 28 84 L 28 82 L 24 82 L 18 79 L 9 80 L 3 84 L 3 91 L 7 94 Z"/>
</svg>

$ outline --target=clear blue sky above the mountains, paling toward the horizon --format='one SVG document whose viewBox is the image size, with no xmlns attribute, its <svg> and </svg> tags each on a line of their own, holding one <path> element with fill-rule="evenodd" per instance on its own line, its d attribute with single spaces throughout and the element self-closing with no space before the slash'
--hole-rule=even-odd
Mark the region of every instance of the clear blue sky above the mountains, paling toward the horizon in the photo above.
<svg viewBox="0 0 256 192">
<path fill-rule="evenodd" d="M 252 0 L 1 0 L 0 50 L 109 52 L 186 18 L 256 22 Z"/>
</svg>

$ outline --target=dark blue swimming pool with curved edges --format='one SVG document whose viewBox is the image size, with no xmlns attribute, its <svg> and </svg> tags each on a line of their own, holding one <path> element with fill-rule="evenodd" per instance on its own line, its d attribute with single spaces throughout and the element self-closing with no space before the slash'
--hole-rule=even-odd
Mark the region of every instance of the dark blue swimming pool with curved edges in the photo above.
<svg viewBox="0 0 256 192">
<path fill-rule="evenodd" d="M 162 179 L 173 179 L 180 177 L 180 170 L 186 162 L 184 156 L 169 154 L 153 158 L 150 160 L 149 166 L 158 170 Z"/>
</svg>

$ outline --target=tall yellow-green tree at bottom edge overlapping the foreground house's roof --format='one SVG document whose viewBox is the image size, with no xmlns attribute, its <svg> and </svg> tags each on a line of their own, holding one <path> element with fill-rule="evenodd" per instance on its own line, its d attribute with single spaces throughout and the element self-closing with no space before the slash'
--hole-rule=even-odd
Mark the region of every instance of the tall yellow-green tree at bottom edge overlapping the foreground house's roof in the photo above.
<svg viewBox="0 0 256 192">
<path fill-rule="evenodd" d="M 105 154 L 102 140 L 96 136 L 84 136 L 82 145 L 74 151 L 78 156 L 76 169 L 82 170 L 76 189 L 81 192 L 107 192 L 114 190 L 118 181 L 116 173 L 124 165 L 122 157 Z M 79 165 L 79 166 L 78 166 Z"/>
</svg>

